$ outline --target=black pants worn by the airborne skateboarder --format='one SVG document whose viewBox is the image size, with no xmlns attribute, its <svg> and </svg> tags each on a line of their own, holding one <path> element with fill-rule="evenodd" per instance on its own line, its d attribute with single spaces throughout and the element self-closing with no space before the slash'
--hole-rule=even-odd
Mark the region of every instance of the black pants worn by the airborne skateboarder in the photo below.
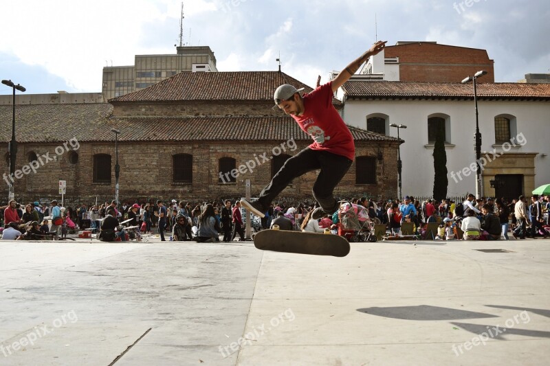
<svg viewBox="0 0 550 366">
<path fill-rule="evenodd" d="M 292 179 L 320 169 L 321 171 L 313 187 L 314 198 L 323 211 L 333 213 L 339 207 L 333 195 L 334 188 L 348 172 L 351 163 L 353 161 L 342 155 L 305 148 L 285 162 L 281 170 L 272 178 L 271 183 L 263 189 L 258 201 L 267 209 L 275 197 L 290 184 Z"/>
</svg>

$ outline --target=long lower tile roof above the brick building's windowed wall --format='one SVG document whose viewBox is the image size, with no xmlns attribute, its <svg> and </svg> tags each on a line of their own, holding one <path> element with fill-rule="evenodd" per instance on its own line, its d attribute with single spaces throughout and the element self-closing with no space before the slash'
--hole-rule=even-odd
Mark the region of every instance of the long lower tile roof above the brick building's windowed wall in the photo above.
<svg viewBox="0 0 550 366">
<path fill-rule="evenodd" d="M 311 140 L 292 117 L 113 117 L 113 106 L 98 104 L 34 104 L 16 107 L 16 139 L 21 143 L 113 141 Z M 0 106 L 0 141 L 11 139 L 12 107 Z M 359 141 L 397 141 L 394 137 L 349 126 Z"/>
</svg>

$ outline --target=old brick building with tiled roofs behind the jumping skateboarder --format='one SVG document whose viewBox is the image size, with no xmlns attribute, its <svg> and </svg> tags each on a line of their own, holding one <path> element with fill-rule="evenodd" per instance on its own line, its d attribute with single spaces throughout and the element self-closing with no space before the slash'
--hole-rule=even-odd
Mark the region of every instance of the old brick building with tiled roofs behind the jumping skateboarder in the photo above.
<svg viewBox="0 0 550 366">
<path fill-rule="evenodd" d="M 272 93 L 283 83 L 311 91 L 278 71 L 179 73 L 109 103 L 19 105 L 16 168 L 23 174 L 14 179 L 16 199 L 58 197 L 60 179 L 67 181 L 68 205 L 113 199 L 111 128 L 120 130 L 122 202 L 239 198 L 245 179 L 256 196 L 285 159 L 311 142 L 294 119 L 272 108 Z M 336 99 L 334 104 L 341 106 Z M 0 120 L 7 124 L 11 116 L 11 106 L 1 105 Z M 357 159 L 336 194 L 395 196 L 399 141 L 350 129 Z M 1 141 L 7 143 L 10 132 L 2 130 Z M 31 161 L 40 167 L 24 174 L 23 166 Z M 252 162 L 256 166 L 250 169 Z M 8 154 L 1 164 L 6 182 Z M 311 198 L 315 179 L 316 172 L 296 179 L 281 198 Z M 0 194 L 8 196 L 7 184 Z"/>
</svg>

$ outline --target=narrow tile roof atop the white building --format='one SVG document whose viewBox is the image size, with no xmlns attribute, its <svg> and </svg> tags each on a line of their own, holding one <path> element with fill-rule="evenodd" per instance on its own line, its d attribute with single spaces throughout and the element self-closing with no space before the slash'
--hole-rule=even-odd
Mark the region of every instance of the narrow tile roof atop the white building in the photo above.
<svg viewBox="0 0 550 366">
<path fill-rule="evenodd" d="M 348 99 L 474 99 L 472 83 L 350 80 L 343 86 Z M 550 100 L 550 84 L 478 83 L 481 100 Z"/>
</svg>

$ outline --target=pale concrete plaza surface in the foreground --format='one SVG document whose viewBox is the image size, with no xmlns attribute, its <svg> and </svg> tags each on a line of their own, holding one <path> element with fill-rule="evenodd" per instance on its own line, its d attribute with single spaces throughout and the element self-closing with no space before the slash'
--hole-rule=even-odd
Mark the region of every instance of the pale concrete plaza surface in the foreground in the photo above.
<svg viewBox="0 0 550 366">
<path fill-rule="evenodd" d="M 540 239 L 1 241 L 0 365 L 547 365 L 549 263 Z"/>
</svg>

